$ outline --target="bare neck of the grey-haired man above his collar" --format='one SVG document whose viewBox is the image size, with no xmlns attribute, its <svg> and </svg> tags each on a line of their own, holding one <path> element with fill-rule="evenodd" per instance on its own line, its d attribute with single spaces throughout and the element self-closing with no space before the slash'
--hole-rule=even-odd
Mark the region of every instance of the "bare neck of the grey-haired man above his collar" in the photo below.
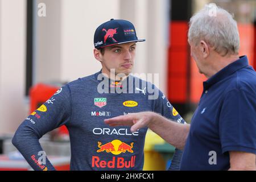
<svg viewBox="0 0 256 182">
<path fill-rule="evenodd" d="M 238 59 L 240 59 L 238 55 L 229 55 L 225 57 L 217 55 L 214 57 L 214 59 L 210 60 L 208 71 L 205 72 L 204 75 L 207 78 L 210 78 L 221 71 L 221 69 L 227 67 L 229 64 L 234 63 Z"/>
</svg>

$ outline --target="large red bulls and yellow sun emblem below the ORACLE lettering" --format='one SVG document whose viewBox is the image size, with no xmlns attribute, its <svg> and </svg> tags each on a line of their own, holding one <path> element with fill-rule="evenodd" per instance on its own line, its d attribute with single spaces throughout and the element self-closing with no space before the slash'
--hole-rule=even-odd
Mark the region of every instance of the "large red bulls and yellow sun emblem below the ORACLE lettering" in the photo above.
<svg viewBox="0 0 256 182">
<path fill-rule="evenodd" d="M 100 148 L 97 152 L 111 152 L 114 155 L 119 155 L 121 153 L 130 152 L 133 153 L 133 142 L 126 144 L 125 142 L 121 142 L 120 140 L 113 140 L 112 142 L 101 144 L 98 142 L 98 147 Z"/>
</svg>

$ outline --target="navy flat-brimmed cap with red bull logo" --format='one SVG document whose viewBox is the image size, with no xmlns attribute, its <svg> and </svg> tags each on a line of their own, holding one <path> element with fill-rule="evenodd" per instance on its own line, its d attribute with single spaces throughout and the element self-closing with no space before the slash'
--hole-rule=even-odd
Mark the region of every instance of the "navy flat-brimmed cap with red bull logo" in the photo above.
<svg viewBox="0 0 256 182">
<path fill-rule="evenodd" d="M 133 23 L 122 19 L 111 19 L 101 24 L 94 34 L 96 49 L 129 42 L 144 42 L 138 39 Z"/>
</svg>

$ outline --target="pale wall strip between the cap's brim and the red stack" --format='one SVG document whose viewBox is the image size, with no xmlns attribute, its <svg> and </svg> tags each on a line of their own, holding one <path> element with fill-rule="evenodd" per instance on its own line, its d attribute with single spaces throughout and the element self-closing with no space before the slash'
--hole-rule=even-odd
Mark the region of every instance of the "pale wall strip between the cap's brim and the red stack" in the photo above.
<svg viewBox="0 0 256 182">
<path fill-rule="evenodd" d="M 147 72 L 159 73 L 159 88 L 167 94 L 167 42 L 169 21 L 166 0 L 148 0 Z"/>
</svg>

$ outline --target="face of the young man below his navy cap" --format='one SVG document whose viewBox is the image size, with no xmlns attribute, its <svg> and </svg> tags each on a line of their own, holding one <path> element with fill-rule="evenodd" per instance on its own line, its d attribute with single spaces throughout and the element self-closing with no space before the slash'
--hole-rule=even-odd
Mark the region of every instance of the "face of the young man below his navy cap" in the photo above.
<svg viewBox="0 0 256 182">
<path fill-rule="evenodd" d="M 131 73 L 134 65 L 136 43 L 124 43 L 106 47 L 104 54 L 94 49 L 94 56 L 102 64 L 102 73 L 110 75 L 110 69 L 115 69 L 115 75 Z"/>
</svg>

